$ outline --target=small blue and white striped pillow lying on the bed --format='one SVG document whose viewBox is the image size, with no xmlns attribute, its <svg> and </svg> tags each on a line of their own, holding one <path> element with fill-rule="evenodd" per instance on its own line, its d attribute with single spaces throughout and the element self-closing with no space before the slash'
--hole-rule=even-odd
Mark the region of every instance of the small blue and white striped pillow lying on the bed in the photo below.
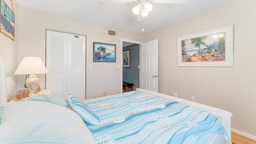
<svg viewBox="0 0 256 144">
<path fill-rule="evenodd" d="M 100 124 L 98 116 L 78 97 L 68 94 L 68 104 L 85 122 L 93 125 Z"/>
</svg>

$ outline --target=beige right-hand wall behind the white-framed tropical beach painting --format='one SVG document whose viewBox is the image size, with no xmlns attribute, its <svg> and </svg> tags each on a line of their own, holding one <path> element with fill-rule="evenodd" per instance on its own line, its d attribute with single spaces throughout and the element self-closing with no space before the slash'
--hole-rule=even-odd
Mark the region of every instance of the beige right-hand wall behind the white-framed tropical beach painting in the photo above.
<svg viewBox="0 0 256 144">
<path fill-rule="evenodd" d="M 218 6 L 144 34 L 159 39 L 159 92 L 232 112 L 232 128 L 256 136 L 256 1 Z M 177 37 L 234 25 L 234 67 L 178 67 Z"/>
</svg>

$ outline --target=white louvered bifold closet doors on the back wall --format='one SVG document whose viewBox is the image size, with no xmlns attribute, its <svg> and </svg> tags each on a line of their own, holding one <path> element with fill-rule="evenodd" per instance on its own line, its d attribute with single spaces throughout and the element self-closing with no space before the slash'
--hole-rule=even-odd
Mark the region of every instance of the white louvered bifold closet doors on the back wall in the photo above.
<svg viewBox="0 0 256 144">
<path fill-rule="evenodd" d="M 86 35 L 46 29 L 46 89 L 86 99 Z"/>
</svg>

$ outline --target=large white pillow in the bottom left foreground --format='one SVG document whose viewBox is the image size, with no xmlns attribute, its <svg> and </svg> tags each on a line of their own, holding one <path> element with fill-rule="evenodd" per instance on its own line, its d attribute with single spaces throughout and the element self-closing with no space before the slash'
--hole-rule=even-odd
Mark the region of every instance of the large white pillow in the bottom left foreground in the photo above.
<svg viewBox="0 0 256 144">
<path fill-rule="evenodd" d="M 95 144 L 92 133 L 74 111 L 47 102 L 4 104 L 0 144 Z"/>
</svg>

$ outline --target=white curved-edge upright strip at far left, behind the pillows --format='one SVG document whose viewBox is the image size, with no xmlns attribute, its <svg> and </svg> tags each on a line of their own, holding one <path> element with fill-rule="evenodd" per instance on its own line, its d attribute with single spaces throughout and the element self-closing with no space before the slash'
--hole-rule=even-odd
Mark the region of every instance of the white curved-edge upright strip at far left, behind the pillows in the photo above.
<svg viewBox="0 0 256 144">
<path fill-rule="evenodd" d="M 0 53 L 0 106 L 3 106 L 3 103 L 7 102 L 6 98 L 6 78 L 4 71 L 4 62 Z"/>
</svg>

